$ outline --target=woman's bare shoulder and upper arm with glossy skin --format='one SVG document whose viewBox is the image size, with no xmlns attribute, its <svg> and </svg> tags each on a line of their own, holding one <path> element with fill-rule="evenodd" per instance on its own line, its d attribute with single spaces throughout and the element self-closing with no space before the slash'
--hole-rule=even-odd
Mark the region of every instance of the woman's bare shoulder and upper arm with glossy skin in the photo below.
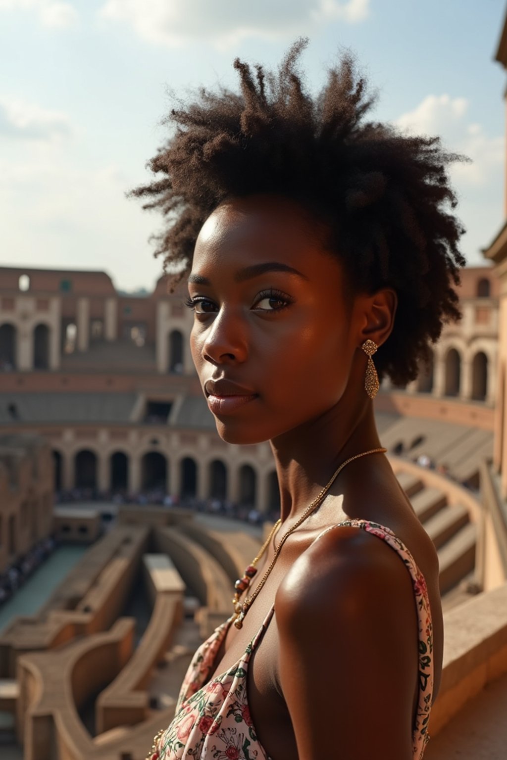
<svg viewBox="0 0 507 760">
<path fill-rule="evenodd" d="M 275 609 L 299 760 L 411 760 L 417 612 L 399 556 L 332 530 L 293 565 Z"/>
</svg>

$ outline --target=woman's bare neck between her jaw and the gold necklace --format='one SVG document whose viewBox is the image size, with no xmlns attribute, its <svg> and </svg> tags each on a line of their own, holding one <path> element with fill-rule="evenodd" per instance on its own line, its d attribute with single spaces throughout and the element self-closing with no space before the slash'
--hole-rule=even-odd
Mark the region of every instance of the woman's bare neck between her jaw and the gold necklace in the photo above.
<svg viewBox="0 0 507 760">
<path fill-rule="evenodd" d="M 347 458 L 379 448 L 372 403 L 342 404 L 271 441 L 280 486 L 280 518 L 300 517 Z M 334 492 L 331 487 L 331 492 Z M 337 491 L 339 492 L 339 490 Z"/>
</svg>

